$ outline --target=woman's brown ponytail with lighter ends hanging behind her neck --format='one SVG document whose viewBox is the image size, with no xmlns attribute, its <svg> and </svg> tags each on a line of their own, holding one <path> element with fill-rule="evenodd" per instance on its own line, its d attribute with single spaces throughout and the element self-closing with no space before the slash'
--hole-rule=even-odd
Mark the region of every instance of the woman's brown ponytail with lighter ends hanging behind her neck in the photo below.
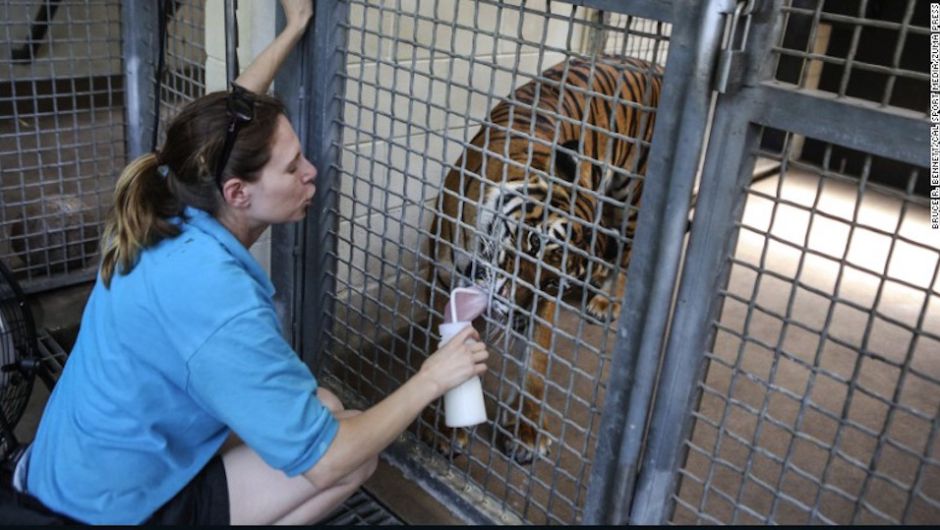
<svg viewBox="0 0 940 530">
<path fill-rule="evenodd" d="M 127 274 L 140 252 L 159 241 L 179 235 L 169 221 L 182 212 L 167 178 L 157 172 L 157 156 L 145 154 L 124 168 L 114 189 L 114 207 L 104 228 L 101 279 L 111 287 L 115 272 Z"/>
</svg>

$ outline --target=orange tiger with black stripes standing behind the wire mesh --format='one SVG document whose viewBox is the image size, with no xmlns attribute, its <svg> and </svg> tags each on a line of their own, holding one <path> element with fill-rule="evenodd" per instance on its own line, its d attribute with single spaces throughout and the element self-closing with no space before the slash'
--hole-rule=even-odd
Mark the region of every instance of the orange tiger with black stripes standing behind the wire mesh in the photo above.
<svg viewBox="0 0 940 530">
<path fill-rule="evenodd" d="M 498 420 L 519 463 L 551 446 L 540 406 L 559 297 L 588 289 L 595 320 L 620 313 L 631 252 L 617 241 L 636 231 L 662 71 L 632 57 L 566 59 L 494 106 L 443 180 L 430 274 L 492 293 L 489 314 L 521 336 L 533 328 L 507 409 L 522 417 Z M 456 449 L 465 444 L 464 433 Z"/>
</svg>

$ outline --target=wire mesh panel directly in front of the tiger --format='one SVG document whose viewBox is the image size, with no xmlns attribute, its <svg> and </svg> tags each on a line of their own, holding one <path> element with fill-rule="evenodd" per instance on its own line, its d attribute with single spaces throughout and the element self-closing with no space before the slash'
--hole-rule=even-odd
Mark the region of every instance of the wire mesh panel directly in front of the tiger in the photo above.
<svg viewBox="0 0 940 530">
<path fill-rule="evenodd" d="M 623 273 L 642 252 L 630 241 L 668 25 L 565 2 L 348 4 L 320 376 L 377 401 L 437 348 L 449 291 L 482 287 L 491 422 L 449 431 L 434 406 L 410 433 L 415 458 L 505 521 L 578 521 Z M 622 43 L 604 53 L 612 31 Z"/>
</svg>

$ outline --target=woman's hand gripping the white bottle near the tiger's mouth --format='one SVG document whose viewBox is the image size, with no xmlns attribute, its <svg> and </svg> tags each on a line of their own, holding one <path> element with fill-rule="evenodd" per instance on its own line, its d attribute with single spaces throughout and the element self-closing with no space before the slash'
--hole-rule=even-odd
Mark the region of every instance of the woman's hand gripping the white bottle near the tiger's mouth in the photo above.
<svg viewBox="0 0 940 530">
<path fill-rule="evenodd" d="M 432 383 L 440 397 L 471 377 L 486 372 L 485 361 L 490 354 L 479 340 L 477 330 L 467 326 L 424 361 L 418 376 Z"/>
</svg>

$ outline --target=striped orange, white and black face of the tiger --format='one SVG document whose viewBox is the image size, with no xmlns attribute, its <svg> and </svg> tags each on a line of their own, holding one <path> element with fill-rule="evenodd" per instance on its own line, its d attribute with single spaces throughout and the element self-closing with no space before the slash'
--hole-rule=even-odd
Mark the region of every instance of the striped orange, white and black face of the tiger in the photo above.
<svg viewBox="0 0 940 530">
<path fill-rule="evenodd" d="M 561 161 L 569 155 L 556 156 Z M 472 257 L 465 255 L 458 267 L 493 293 L 494 316 L 511 316 L 517 329 L 528 322 L 538 298 L 593 283 L 591 276 L 599 273 L 590 257 L 604 255 L 608 238 L 594 227 L 596 194 L 574 184 L 574 166 L 558 162 L 549 173 L 533 164 L 544 174 L 489 181 L 476 211 Z M 491 167 L 501 169 L 498 163 Z"/>
</svg>

